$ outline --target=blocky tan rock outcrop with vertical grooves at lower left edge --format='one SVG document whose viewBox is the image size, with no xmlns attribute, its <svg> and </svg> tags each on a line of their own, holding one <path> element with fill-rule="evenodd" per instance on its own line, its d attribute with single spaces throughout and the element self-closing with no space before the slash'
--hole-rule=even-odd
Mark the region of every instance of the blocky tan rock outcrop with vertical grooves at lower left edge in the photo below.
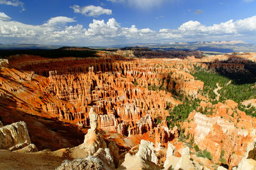
<svg viewBox="0 0 256 170">
<path fill-rule="evenodd" d="M 27 125 L 24 121 L 0 128 L 0 149 L 19 150 L 31 144 Z"/>
</svg>

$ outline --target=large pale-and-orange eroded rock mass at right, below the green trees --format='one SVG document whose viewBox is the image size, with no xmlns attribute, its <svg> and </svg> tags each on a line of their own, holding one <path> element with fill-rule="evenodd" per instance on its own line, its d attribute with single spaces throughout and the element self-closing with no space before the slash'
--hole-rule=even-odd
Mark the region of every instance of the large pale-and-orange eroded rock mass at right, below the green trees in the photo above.
<svg viewBox="0 0 256 170">
<path fill-rule="evenodd" d="M 209 151 L 213 160 L 218 161 L 223 152 L 222 158 L 227 160 L 227 164 L 236 166 L 243 157 L 248 143 L 256 137 L 255 118 L 239 111 L 232 101 L 212 107 L 215 113 L 212 116 L 191 112 L 190 122 L 184 123 L 185 133 L 193 135 L 195 144 L 201 150 Z"/>
</svg>

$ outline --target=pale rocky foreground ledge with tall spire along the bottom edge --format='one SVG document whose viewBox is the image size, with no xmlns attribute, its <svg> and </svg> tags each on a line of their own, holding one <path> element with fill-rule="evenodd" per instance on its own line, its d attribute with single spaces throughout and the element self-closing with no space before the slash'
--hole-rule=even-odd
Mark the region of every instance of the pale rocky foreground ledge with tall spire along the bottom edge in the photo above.
<svg viewBox="0 0 256 170">
<path fill-rule="evenodd" d="M 166 160 L 161 167 L 157 157 L 159 150 L 157 151 L 154 143 L 145 140 L 141 140 L 137 151 L 129 151 L 124 160 L 120 160 L 116 143 L 103 139 L 97 129 L 99 116 L 93 107 L 89 116 L 91 128 L 84 136 L 84 143 L 57 151 L 37 151 L 35 145 L 30 142 L 26 123 L 17 122 L 3 126 L 0 121 L 0 169 L 209 169 L 197 162 L 195 157 L 191 157 L 188 146 L 177 151 L 171 143 L 168 143 L 164 154 Z M 233 169 L 256 168 L 255 144 L 256 139 L 248 144 L 243 159 Z M 177 152 L 180 153 L 179 157 L 175 156 Z M 218 169 L 225 167 L 220 166 Z"/>
</svg>

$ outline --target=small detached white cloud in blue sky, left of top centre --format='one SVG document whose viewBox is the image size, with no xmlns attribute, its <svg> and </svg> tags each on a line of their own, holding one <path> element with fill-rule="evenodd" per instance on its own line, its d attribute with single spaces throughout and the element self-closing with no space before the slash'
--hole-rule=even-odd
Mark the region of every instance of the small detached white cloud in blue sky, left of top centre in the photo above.
<svg viewBox="0 0 256 170">
<path fill-rule="evenodd" d="M 112 10 L 104 9 L 101 6 L 78 6 L 78 5 L 73 5 L 70 6 L 74 10 L 75 13 L 82 13 L 83 15 L 89 16 L 89 17 L 97 17 L 99 15 L 111 15 Z"/>
</svg>

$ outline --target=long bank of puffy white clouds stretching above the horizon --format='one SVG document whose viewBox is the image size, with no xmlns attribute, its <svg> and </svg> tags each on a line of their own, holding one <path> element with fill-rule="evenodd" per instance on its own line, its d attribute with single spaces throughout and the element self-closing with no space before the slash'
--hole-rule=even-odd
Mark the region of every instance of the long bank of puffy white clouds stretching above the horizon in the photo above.
<svg viewBox="0 0 256 170">
<path fill-rule="evenodd" d="M 220 41 L 224 38 L 225 40 L 243 40 L 247 37 L 253 40 L 256 38 L 256 15 L 241 20 L 228 20 L 212 26 L 190 20 L 177 29 L 164 28 L 159 31 L 153 31 L 147 27 L 138 29 L 135 25 L 122 27 L 114 18 L 106 21 L 93 19 L 92 23 L 84 27 L 81 24 L 68 26 L 76 20 L 61 16 L 53 17 L 45 24 L 38 26 L 12 21 L 4 13 L 0 13 L 0 16 L 3 18 L 0 20 L 0 38 L 2 40 L 13 38 L 15 42 L 26 40 L 27 43 L 109 45 L 127 42 Z"/>
</svg>

